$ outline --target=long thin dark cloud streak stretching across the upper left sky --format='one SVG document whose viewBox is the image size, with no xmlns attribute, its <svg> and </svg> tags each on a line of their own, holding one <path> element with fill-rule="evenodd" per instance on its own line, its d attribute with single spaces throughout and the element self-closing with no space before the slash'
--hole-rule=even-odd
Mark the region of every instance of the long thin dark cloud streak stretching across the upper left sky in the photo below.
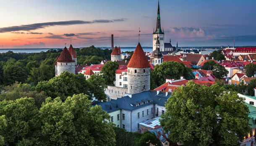
<svg viewBox="0 0 256 146">
<path fill-rule="evenodd" d="M 12 31 L 29 31 L 36 30 L 39 28 L 46 28 L 50 26 L 58 26 L 58 25 L 76 25 L 76 24 L 92 24 L 92 23 L 113 23 L 113 22 L 121 22 L 127 19 L 113 19 L 113 20 L 93 20 L 93 21 L 82 21 L 82 20 L 71 20 L 71 21 L 59 21 L 59 22 L 47 22 L 47 23 L 34 23 L 28 25 L 19 25 L 19 26 L 10 26 L 6 28 L 0 28 L 0 33 L 12 32 Z"/>
</svg>

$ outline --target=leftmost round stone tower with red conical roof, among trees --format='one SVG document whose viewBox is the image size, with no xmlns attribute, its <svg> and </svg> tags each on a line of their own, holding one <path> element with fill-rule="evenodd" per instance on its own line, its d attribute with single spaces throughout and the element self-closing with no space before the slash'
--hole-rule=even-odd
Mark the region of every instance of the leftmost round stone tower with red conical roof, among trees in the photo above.
<svg viewBox="0 0 256 146">
<path fill-rule="evenodd" d="M 75 74 L 75 63 L 76 61 L 72 59 L 71 54 L 65 47 L 57 60 L 57 76 L 63 73 L 63 71 Z"/>
</svg>

